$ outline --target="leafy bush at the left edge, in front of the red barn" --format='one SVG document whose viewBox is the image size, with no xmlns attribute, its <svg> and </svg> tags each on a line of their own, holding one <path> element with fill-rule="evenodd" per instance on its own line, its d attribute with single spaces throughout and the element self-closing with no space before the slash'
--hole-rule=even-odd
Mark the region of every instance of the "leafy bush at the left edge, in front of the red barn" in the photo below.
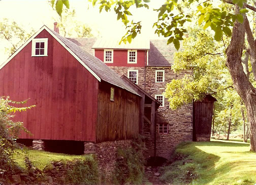
<svg viewBox="0 0 256 185">
<path fill-rule="evenodd" d="M 25 102 L 25 101 L 24 101 Z M 17 171 L 20 171 L 16 165 L 13 155 L 15 149 L 20 148 L 15 140 L 21 130 L 27 132 L 21 122 L 13 122 L 12 118 L 16 111 L 25 111 L 33 106 L 15 107 L 11 104 L 24 103 L 14 102 L 9 97 L 0 97 L 0 174 L 9 177 Z M 0 175 L 0 179 L 1 179 Z"/>
</svg>

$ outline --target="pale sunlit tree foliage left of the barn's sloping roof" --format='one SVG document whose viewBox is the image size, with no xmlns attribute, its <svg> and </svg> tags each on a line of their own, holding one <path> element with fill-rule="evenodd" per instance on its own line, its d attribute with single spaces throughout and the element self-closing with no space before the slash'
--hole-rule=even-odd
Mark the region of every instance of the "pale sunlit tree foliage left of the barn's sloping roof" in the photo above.
<svg viewBox="0 0 256 185">
<path fill-rule="evenodd" d="M 33 29 L 29 33 L 26 32 L 15 21 L 11 22 L 6 18 L 0 21 L 0 39 L 8 41 L 9 45 L 5 50 L 9 55 L 12 55 L 34 33 Z"/>
</svg>

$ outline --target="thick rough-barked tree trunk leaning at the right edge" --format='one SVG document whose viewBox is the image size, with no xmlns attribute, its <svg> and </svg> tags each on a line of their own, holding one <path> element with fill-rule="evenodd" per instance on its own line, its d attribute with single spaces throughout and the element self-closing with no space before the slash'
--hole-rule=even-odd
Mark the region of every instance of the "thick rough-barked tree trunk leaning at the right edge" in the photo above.
<svg viewBox="0 0 256 185">
<path fill-rule="evenodd" d="M 236 13 L 239 12 L 236 6 Z M 244 21 L 245 22 L 245 21 Z M 245 26 L 235 22 L 230 46 L 228 47 L 226 65 L 230 71 L 234 87 L 245 103 L 250 123 L 250 150 L 255 151 L 256 144 L 256 89 L 247 79 L 242 66 Z"/>
</svg>

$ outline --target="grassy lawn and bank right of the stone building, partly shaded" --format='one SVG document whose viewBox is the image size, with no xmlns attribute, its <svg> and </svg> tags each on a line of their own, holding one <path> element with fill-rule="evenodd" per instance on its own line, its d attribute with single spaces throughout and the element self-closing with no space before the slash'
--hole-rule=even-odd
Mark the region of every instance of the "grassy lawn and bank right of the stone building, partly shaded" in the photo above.
<svg viewBox="0 0 256 185">
<path fill-rule="evenodd" d="M 162 180 L 173 184 L 255 184 L 256 153 L 249 143 L 212 139 L 180 144 L 176 160 L 162 169 Z"/>
</svg>

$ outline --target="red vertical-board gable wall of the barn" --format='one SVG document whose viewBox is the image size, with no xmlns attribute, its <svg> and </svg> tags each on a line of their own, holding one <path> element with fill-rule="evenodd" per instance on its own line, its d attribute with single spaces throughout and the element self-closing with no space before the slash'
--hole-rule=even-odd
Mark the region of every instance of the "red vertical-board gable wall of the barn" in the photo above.
<svg viewBox="0 0 256 185">
<path fill-rule="evenodd" d="M 46 30 L 48 56 L 31 57 L 31 42 L 0 69 L 0 96 L 36 107 L 15 120 L 33 134 L 20 138 L 95 141 L 99 82 Z"/>
</svg>

